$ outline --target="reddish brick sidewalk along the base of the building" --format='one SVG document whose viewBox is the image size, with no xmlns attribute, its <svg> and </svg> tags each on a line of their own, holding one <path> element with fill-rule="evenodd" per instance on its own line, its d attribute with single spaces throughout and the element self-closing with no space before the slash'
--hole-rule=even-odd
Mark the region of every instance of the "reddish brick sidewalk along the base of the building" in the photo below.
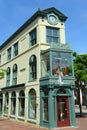
<svg viewBox="0 0 87 130">
<path fill-rule="evenodd" d="M 51 130 L 87 130 L 87 118 L 86 117 L 77 117 L 77 126 L 76 127 L 60 127 Z M 49 130 L 47 128 L 38 127 L 33 124 L 24 124 L 11 120 L 0 120 L 0 130 Z"/>
</svg>

